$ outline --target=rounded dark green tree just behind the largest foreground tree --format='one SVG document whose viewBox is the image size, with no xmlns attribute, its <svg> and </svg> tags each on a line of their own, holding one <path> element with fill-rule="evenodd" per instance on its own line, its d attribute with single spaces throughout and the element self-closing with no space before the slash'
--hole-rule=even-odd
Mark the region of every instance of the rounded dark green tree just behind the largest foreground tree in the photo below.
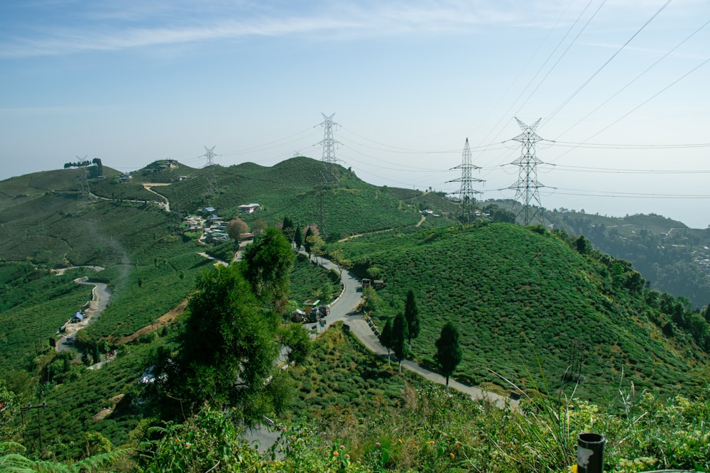
<svg viewBox="0 0 710 473">
<path fill-rule="evenodd" d="M 288 302 L 288 277 L 294 259 L 291 245 L 275 228 L 264 230 L 244 251 L 244 277 L 256 296 L 278 312 Z"/>
</svg>

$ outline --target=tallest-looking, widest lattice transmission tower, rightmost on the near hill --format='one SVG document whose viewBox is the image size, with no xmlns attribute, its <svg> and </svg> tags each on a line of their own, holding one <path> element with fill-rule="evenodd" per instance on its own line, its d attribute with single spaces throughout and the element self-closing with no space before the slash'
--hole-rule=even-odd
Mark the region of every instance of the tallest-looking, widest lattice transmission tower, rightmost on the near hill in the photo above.
<svg viewBox="0 0 710 473">
<path fill-rule="evenodd" d="M 523 225 L 529 225 L 535 220 L 540 222 L 540 224 L 545 224 L 542 221 L 542 205 L 540 205 L 540 191 L 538 191 L 540 187 L 545 186 L 537 180 L 537 165 L 542 164 L 542 161 L 535 156 L 535 143 L 542 141 L 542 138 L 535 133 L 535 129 L 537 129 L 541 119 L 537 119 L 530 126 L 524 124 L 517 117 L 515 117 L 515 120 L 518 121 L 523 133 L 513 138 L 515 141 L 520 141 L 521 144 L 520 158 L 510 163 L 520 168 L 518 182 L 508 187 L 508 189 L 515 189 L 513 213 L 516 219 L 522 214 Z M 516 212 L 516 206 L 520 202 L 523 202 L 523 207 Z"/>
</svg>

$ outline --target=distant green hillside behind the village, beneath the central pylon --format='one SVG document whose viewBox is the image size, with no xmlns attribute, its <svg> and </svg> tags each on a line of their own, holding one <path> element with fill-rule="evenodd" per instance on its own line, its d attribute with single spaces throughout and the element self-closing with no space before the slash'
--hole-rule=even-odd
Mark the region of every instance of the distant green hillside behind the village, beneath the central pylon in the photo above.
<svg viewBox="0 0 710 473">
<path fill-rule="evenodd" d="M 421 207 L 455 210 L 442 196 L 376 187 L 340 165 L 311 158 L 290 158 L 272 167 L 254 163 L 202 169 L 177 166 L 172 177 L 185 173 L 186 178 L 173 179 L 171 185 L 157 190 L 170 201 L 173 212 L 184 215 L 210 206 L 231 218 L 239 205 L 257 202 L 262 211 L 244 216 L 247 223 L 261 219 L 271 224 L 288 216 L 301 225 L 319 224 L 331 239 L 417 224 L 420 202 Z M 155 200 L 143 183 L 158 175 L 141 170 L 133 173 L 130 183 L 92 181 L 92 192 L 112 200 Z"/>
</svg>

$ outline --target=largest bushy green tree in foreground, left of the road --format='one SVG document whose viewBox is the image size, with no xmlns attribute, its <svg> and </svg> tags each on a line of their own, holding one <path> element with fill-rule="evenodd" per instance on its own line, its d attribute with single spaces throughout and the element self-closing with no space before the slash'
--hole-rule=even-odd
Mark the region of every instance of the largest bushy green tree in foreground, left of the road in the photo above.
<svg viewBox="0 0 710 473">
<path fill-rule="evenodd" d="M 159 355 L 155 362 L 161 406 L 185 414 L 204 403 L 232 406 L 247 421 L 283 407 L 278 381 L 268 381 L 280 353 L 279 317 L 260 308 L 237 266 L 200 274 L 186 314 L 177 353 Z"/>
</svg>

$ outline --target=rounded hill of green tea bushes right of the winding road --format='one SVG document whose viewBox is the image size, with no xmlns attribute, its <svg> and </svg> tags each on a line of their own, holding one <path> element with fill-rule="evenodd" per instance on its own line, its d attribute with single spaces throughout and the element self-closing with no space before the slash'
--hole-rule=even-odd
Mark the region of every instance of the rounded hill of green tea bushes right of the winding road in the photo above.
<svg viewBox="0 0 710 473">
<path fill-rule="evenodd" d="M 341 246 L 363 276 L 374 271 L 385 279 L 376 310 L 381 323 L 403 310 L 408 288 L 415 290 L 418 361 L 432 364 L 444 322 L 459 326 L 463 381 L 504 385 L 493 370 L 531 388 L 533 379 L 540 383 L 540 364 L 549 388 L 579 379 L 578 392 L 592 398 L 622 373 L 636 386 L 666 391 L 692 391 L 704 382 L 697 375 L 707 354 L 680 331 L 663 334 L 670 315 L 646 303 L 633 268 L 579 254 L 550 232 L 491 223 L 373 234 Z"/>
</svg>

